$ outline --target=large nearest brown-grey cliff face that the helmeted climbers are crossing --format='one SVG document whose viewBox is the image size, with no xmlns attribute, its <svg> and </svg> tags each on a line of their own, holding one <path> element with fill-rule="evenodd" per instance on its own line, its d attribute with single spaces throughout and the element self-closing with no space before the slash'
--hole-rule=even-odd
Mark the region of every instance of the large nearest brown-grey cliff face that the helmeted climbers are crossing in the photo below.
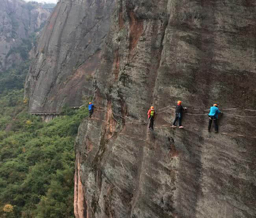
<svg viewBox="0 0 256 218">
<path fill-rule="evenodd" d="M 76 218 L 256 216 L 256 118 L 228 115 L 256 116 L 245 111 L 256 108 L 255 16 L 245 0 L 116 1 L 94 79 L 101 108 L 75 143 Z M 187 129 L 169 127 L 177 100 Z M 237 108 L 219 134 L 189 115 L 215 102 Z M 138 121 L 150 105 L 153 132 Z"/>
</svg>

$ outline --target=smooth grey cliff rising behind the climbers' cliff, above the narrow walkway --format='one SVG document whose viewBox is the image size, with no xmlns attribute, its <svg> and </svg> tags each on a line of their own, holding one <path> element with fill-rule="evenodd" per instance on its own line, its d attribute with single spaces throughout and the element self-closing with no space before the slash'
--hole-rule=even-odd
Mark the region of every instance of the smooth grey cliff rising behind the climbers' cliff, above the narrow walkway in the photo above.
<svg viewBox="0 0 256 218">
<path fill-rule="evenodd" d="M 109 30 L 114 0 L 60 1 L 37 42 L 26 79 L 30 111 L 80 106 L 93 95 L 93 76 Z"/>
</svg>

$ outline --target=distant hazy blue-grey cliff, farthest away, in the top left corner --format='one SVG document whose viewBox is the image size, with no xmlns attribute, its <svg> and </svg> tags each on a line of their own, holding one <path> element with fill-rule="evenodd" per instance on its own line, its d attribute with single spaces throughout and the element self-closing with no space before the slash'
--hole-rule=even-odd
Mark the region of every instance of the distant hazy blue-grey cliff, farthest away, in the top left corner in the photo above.
<svg viewBox="0 0 256 218">
<path fill-rule="evenodd" d="M 0 71 L 26 59 L 31 49 L 31 34 L 40 29 L 50 10 L 22 0 L 1 0 Z M 26 51 L 29 49 L 28 51 Z"/>
</svg>

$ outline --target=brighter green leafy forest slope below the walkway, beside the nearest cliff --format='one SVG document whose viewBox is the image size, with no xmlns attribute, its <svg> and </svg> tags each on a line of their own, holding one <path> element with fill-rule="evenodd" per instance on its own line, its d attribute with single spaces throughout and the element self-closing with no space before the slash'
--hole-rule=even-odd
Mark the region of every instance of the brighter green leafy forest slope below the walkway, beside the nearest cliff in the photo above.
<svg viewBox="0 0 256 218">
<path fill-rule="evenodd" d="M 0 94 L 0 217 L 74 217 L 74 138 L 88 111 L 66 106 L 43 123 L 27 104 L 23 90 Z"/>
</svg>

